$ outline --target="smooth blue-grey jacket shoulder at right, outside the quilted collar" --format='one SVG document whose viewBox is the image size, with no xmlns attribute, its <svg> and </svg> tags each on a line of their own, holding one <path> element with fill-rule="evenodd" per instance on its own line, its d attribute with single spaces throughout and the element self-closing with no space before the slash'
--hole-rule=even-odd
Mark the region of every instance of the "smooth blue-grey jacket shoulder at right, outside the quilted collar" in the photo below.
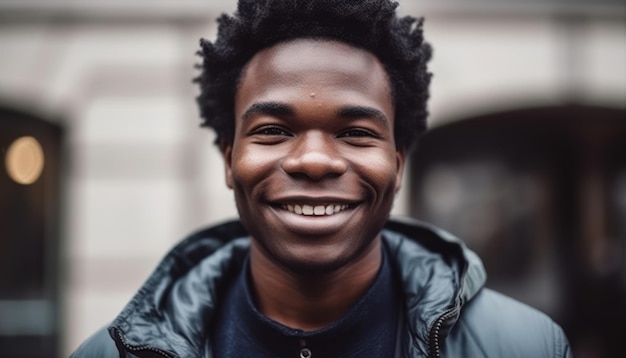
<svg viewBox="0 0 626 358">
<path fill-rule="evenodd" d="M 550 317 L 489 289 L 466 304 L 448 341 L 446 348 L 454 351 L 462 342 L 463 351 L 477 357 L 571 357 L 563 330 Z"/>
</svg>

